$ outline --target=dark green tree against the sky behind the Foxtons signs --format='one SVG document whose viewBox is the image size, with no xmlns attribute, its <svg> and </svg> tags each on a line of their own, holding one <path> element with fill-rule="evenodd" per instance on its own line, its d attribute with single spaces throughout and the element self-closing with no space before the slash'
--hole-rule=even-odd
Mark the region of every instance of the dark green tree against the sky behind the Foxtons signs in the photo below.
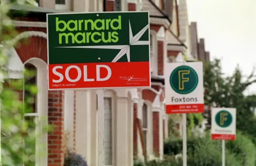
<svg viewBox="0 0 256 166">
<path fill-rule="evenodd" d="M 252 107 L 256 106 L 256 95 L 244 95 L 244 90 L 255 82 L 254 70 L 244 80 L 242 72 L 237 66 L 231 76 L 225 77 L 219 59 L 205 62 L 204 103 L 212 107 L 236 108 L 237 129 L 244 133 L 256 134 L 256 129 L 252 129 L 252 125 L 256 124 L 256 118 L 252 111 Z M 210 118 L 209 116 L 208 121 Z"/>
</svg>

